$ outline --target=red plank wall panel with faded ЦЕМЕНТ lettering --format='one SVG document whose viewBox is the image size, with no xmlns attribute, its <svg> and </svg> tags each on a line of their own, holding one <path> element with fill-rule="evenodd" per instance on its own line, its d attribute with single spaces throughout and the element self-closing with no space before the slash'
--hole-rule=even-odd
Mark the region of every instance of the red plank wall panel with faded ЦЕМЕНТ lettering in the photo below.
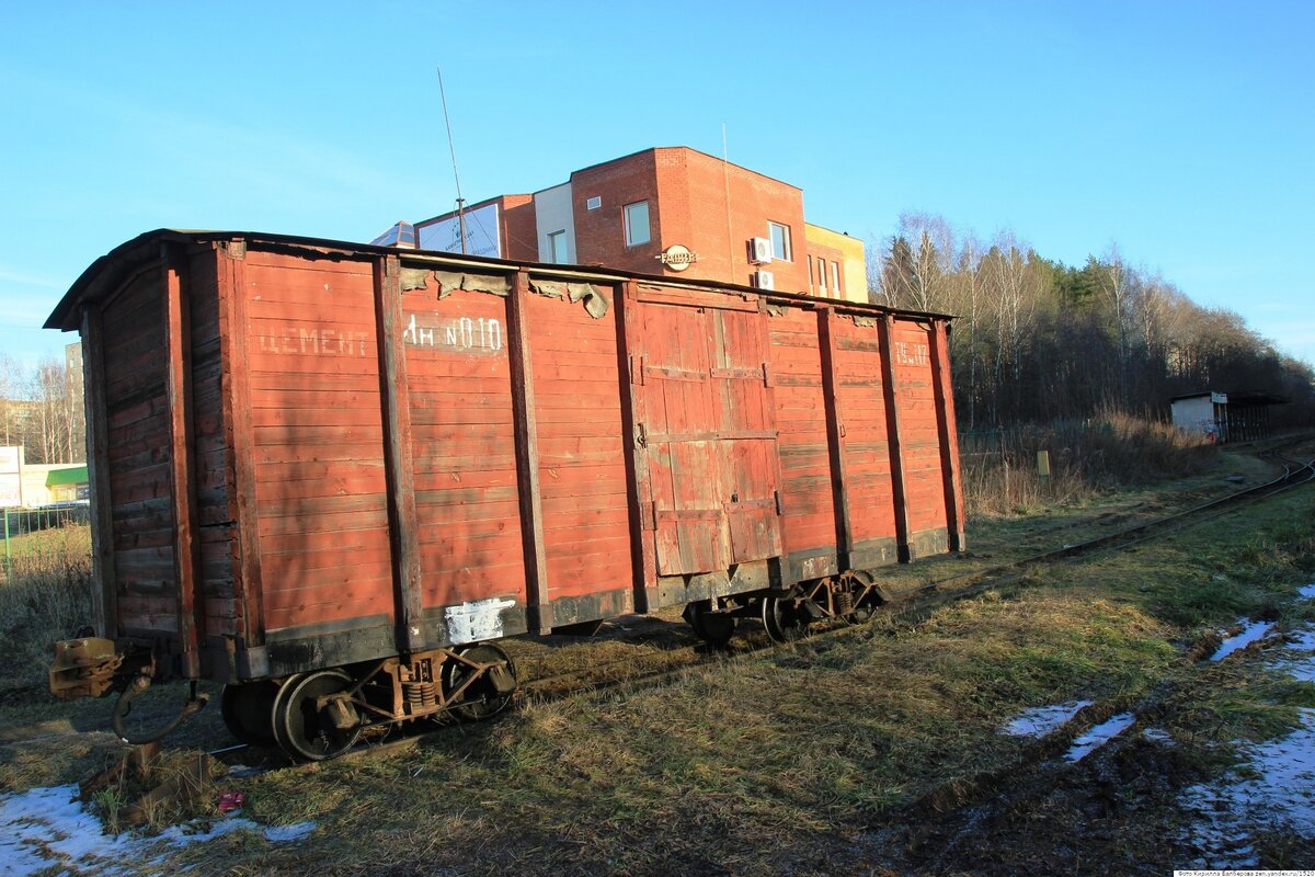
<svg viewBox="0 0 1315 877">
<path fill-rule="evenodd" d="M 242 276 L 266 627 L 392 618 L 371 263 L 252 250 Z"/>
</svg>

